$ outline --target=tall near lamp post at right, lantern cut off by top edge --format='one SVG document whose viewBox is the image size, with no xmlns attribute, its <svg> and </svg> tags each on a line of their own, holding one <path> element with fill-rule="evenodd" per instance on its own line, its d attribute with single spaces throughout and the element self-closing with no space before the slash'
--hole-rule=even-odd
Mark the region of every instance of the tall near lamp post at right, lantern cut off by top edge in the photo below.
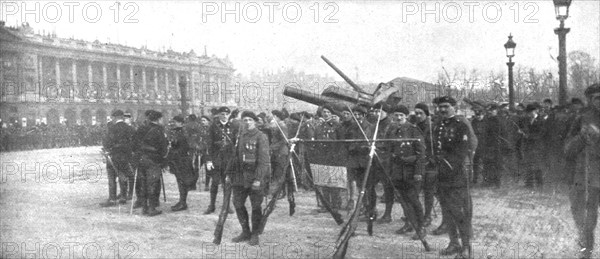
<svg viewBox="0 0 600 259">
<path fill-rule="evenodd" d="M 571 29 L 565 28 L 565 20 L 569 17 L 569 6 L 572 0 L 554 0 L 556 19 L 560 27 L 554 29 L 558 35 L 558 104 L 567 103 L 567 33 Z"/>
</svg>

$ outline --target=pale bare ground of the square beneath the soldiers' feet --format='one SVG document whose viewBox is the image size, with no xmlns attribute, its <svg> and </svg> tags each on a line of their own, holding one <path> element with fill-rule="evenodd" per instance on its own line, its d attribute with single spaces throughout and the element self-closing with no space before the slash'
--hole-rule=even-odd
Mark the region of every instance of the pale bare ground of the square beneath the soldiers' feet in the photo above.
<svg viewBox="0 0 600 259">
<path fill-rule="evenodd" d="M 220 246 L 212 244 L 217 213 L 202 215 L 208 192 L 192 191 L 189 209 L 171 212 L 177 202 L 175 177 L 165 174 L 163 214 L 129 215 L 126 205 L 100 208 L 108 196 L 99 147 L 0 154 L 0 258 L 329 258 L 340 230 L 328 214 L 316 214 L 314 193 L 297 194 L 296 214 L 285 199 L 269 218 L 261 245 L 234 244 L 240 231 L 235 214 L 227 220 Z M 565 258 L 577 252 L 565 190 L 532 192 L 522 187 L 472 189 L 477 258 Z M 221 204 L 221 201 L 217 204 Z M 379 204 L 380 214 L 383 204 Z M 430 229 L 441 221 L 440 208 Z M 428 236 L 435 250 L 394 231 L 394 222 L 376 224 L 368 236 L 360 223 L 348 258 L 440 258 L 447 236 Z M 344 213 L 344 216 L 345 213 Z M 345 217 L 346 219 L 347 217 Z M 597 254 L 594 254 L 597 256 Z"/>
</svg>

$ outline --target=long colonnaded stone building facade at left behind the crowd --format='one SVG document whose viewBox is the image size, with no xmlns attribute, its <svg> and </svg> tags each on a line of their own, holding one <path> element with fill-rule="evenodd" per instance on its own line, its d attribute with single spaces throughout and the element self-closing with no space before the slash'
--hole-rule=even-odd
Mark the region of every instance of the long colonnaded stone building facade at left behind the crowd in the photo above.
<svg viewBox="0 0 600 259">
<path fill-rule="evenodd" d="M 118 44 L 40 35 L 24 24 L 0 21 L 0 118 L 28 125 L 106 123 L 121 109 L 134 118 L 145 110 L 206 114 L 238 106 L 225 93 L 232 85 L 227 58 L 194 51 L 157 52 Z"/>
</svg>

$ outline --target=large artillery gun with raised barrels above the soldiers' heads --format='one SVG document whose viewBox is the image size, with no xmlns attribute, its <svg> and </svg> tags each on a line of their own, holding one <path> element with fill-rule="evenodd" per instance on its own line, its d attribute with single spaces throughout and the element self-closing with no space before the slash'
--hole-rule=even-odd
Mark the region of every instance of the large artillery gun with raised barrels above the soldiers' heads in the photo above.
<svg viewBox="0 0 600 259">
<path fill-rule="evenodd" d="M 400 103 L 402 97 L 400 95 L 401 85 L 395 85 L 393 81 L 388 83 L 380 83 L 373 93 L 368 93 L 362 87 L 354 83 L 344 72 L 337 68 L 329 59 L 321 56 L 321 59 L 327 63 L 344 81 L 346 81 L 353 89 L 348 90 L 338 86 L 329 86 L 323 90 L 321 95 L 310 91 L 302 90 L 296 87 L 285 87 L 283 95 L 298 99 L 317 106 L 330 105 L 337 111 L 343 110 L 347 106 L 364 105 L 372 107 L 378 103 L 386 103 L 390 106 L 395 106 Z"/>
</svg>

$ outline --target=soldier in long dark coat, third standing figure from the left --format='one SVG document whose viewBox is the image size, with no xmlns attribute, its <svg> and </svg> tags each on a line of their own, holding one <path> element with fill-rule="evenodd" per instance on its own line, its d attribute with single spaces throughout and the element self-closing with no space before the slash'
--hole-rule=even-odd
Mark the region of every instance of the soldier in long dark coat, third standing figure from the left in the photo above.
<svg viewBox="0 0 600 259">
<path fill-rule="evenodd" d="M 167 156 L 170 172 L 177 179 L 179 202 L 171 207 L 172 211 L 187 209 L 187 194 L 196 187 L 198 171 L 193 168 L 193 149 L 183 129 L 183 116 L 173 117 L 174 127 L 169 132 L 169 155 Z"/>
</svg>

